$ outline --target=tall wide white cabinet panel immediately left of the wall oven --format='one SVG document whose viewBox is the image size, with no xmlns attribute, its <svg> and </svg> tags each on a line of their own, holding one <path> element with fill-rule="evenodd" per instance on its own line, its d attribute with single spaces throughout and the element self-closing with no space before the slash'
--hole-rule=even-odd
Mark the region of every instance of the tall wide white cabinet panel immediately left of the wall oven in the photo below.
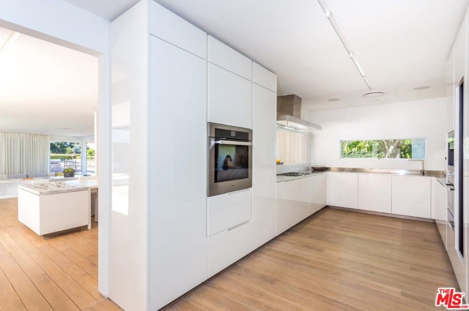
<svg viewBox="0 0 469 311">
<path fill-rule="evenodd" d="M 205 60 L 150 37 L 150 310 L 208 276 L 206 69 Z"/>
</svg>

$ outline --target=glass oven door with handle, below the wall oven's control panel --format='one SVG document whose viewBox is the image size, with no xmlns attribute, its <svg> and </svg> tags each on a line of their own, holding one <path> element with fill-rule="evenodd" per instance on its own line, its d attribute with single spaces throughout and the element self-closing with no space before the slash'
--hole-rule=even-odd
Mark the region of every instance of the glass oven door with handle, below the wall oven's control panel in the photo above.
<svg viewBox="0 0 469 311">
<path fill-rule="evenodd" d="M 209 196 L 252 187 L 252 145 L 210 138 Z"/>
</svg>

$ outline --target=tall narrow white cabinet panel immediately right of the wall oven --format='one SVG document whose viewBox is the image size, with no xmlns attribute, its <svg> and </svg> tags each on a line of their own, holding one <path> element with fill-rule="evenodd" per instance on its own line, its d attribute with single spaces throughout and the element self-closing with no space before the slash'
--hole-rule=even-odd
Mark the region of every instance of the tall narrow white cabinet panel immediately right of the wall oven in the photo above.
<svg viewBox="0 0 469 311">
<path fill-rule="evenodd" d="M 253 249 L 275 237 L 276 103 L 275 92 L 253 84 Z"/>
</svg>

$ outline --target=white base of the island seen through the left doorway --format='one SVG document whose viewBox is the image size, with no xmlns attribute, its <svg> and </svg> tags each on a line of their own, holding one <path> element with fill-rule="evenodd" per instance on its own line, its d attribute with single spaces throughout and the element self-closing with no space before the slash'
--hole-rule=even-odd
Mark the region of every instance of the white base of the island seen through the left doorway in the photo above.
<svg viewBox="0 0 469 311">
<path fill-rule="evenodd" d="M 38 235 L 89 225 L 89 193 L 39 195 L 18 189 L 18 220 Z"/>
</svg>

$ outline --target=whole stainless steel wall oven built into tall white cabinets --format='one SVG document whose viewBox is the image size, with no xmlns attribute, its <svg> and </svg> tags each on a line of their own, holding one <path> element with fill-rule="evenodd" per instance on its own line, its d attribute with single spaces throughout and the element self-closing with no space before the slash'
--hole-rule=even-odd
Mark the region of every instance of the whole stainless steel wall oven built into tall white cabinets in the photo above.
<svg viewBox="0 0 469 311">
<path fill-rule="evenodd" d="M 208 196 L 252 187 L 253 131 L 209 123 Z"/>
</svg>

